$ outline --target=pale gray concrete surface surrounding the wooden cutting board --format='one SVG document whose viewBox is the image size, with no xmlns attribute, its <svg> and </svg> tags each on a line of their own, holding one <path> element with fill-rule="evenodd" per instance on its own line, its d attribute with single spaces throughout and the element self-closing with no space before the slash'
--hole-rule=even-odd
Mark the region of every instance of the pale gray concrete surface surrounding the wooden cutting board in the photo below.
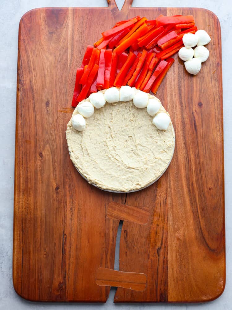
<svg viewBox="0 0 232 310">
<path fill-rule="evenodd" d="M 116 0 L 121 9 L 123 0 Z M 18 26 L 21 16 L 36 7 L 104 7 L 106 0 L 1 0 L 0 1 L 0 309 L 232 309 L 232 8 L 231 1 L 218 0 L 134 0 L 134 7 L 203 7 L 221 22 L 224 108 L 224 154 L 226 195 L 226 288 L 221 297 L 202 304 L 113 304 L 114 289 L 105 304 L 32 303 L 20 298 L 12 285 L 13 196 L 15 153 L 15 105 Z M 207 87 L 207 85 L 206 85 Z"/>
</svg>

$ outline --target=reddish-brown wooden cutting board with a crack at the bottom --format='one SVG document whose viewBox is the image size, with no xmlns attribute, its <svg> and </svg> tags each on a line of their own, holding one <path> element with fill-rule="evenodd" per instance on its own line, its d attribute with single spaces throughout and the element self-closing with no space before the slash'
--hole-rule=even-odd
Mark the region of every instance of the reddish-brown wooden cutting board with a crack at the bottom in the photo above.
<svg viewBox="0 0 232 310">
<path fill-rule="evenodd" d="M 112 285 L 123 286 L 115 302 L 203 302 L 224 290 L 220 23 L 204 9 L 131 2 L 121 11 L 110 0 L 101 8 L 35 9 L 20 21 L 13 282 L 26 299 L 105 302 Z M 168 170 L 142 191 L 108 193 L 89 185 L 69 157 L 76 68 L 87 44 L 116 21 L 159 14 L 194 15 L 212 37 L 210 57 L 191 76 L 175 55 L 157 92 L 176 132 Z M 121 273 L 108 271 L 120 219 Z"/>
</svg>

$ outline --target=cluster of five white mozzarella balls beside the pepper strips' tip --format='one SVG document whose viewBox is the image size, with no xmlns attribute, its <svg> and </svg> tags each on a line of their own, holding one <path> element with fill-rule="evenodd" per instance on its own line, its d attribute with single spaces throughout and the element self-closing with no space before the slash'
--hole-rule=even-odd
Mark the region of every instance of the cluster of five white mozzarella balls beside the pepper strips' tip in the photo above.
<svg viewBox="0 0 232 310">
<path fill-rule="evenodd" d="M 205 30 L 198 30 L 196 33 L 186 33 L 183 36 L 183 44 L 178 56 L 184 60 L 185 69 L 188 73 L 196 75 L 201 69 L 201 63 L 206 61 L 209 51 L 204 45 L 210 42 L 211 38 Z M 192 47 L 196 46 L 193 50 Z M 194 58 L 193 58 L 194 56 Z"/>
</svg>

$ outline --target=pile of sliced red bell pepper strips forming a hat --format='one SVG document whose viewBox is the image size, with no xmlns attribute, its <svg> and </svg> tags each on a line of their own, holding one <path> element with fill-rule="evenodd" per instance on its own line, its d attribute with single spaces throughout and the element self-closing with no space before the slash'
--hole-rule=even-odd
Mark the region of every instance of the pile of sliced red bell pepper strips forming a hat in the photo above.
<svg viewBox="0 0 232 310">
<path fill-rule="evenodd" d="M 192 15 L 163 16 L 147 20 L 136 16 L 121 20 L 102 38 L 88 45 L 76 71 L 72 106 L 91 93 L 112 86 L 129 85 L 157 92 L 174 55 L 183 47 L 183 35 L 195 33 Z"/>
</svg>

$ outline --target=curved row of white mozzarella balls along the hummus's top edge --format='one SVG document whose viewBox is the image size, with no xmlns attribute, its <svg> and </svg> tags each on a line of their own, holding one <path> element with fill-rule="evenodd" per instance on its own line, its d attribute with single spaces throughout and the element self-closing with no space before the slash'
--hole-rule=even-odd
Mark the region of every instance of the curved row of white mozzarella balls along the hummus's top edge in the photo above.
<svg viewBox="0 0 232 310">
<path fill-rule="evenodd" d="M 135 87 L 122 86 L 120 91 L 116 87 L 111 87 L 102 92 L 92 93 L 89 96 L 89 101 L 83 101 L 76 107 L 79 114 L 72 117 L 72 126 L 82 131 L 85 128 L 84 117 L 90 117 L 94 113 L 94 108 L 102 108 L 106 102 L 116 103 L 118 101 L 126 102 L 133 100 L 137 108 L 147 108 L 149 115 L 154 116 L 159 111 L 160 101 L 154 97 L 148 98 L 148 94 L 143 91 L 137 91 Z M 170 124 L 170 117 L 166 113 L 159 113 L 153 118 L 153 124 L 160 130 L 166 130 Z"/>
</svg>

